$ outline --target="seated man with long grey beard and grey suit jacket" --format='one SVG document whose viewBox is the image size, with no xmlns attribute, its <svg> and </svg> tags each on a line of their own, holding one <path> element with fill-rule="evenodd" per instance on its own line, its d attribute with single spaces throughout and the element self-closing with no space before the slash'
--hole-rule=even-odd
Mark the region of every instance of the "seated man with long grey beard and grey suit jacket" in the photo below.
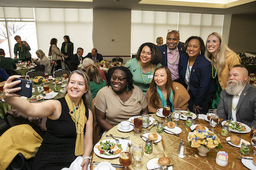
<svg viewBox="0 0 256 170">
<path fill-rule="evenodd" d="M 221 92 L 217 113 L 220 118 L 256 125 L 256 88 L 247 83 L 248 70 L 234 65 L 229 71 L 227 87 Z"/>
</svg>

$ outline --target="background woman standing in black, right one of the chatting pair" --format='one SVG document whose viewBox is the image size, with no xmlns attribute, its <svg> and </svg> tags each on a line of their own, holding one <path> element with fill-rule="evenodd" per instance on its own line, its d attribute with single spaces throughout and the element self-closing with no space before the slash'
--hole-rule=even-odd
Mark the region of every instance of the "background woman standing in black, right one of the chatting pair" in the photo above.
<svg viewBox="0 0 256 170">
<path fill-rule="evenodd" d="M 68 35 L 65 35 L 63 38 L 64 42 L 62 42 L 61 53 L 65 55 L 65 63 L 67 63 L 70 60 L 70 57 L 74 55 L 74 44 L 70 41 Z"/>
</svg>

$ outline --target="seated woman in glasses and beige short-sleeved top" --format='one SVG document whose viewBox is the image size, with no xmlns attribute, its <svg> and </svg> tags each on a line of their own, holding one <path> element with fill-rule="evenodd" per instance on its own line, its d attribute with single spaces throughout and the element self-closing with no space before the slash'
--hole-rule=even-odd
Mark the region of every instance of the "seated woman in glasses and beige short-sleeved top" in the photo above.
<svg viewBox="0 0 256 170">
<path fill-rule="evenodd" d="M 116 67 L 109 85 L 100 89 L 95 97 L 98 125 L 108 131 L 123 120 L 148 113 L 145 96 L 133 85 L 133 75 L 126 67 Z"/>
</svg>

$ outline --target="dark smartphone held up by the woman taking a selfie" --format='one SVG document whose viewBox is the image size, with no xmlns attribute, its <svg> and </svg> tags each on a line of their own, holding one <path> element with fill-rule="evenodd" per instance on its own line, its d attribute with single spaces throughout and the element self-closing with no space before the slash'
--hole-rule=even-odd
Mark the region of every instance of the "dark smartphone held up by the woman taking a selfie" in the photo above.
<svg viewBox="0 0 256 170">
<path fill-rule="evenodd" d="M 14 79 L 14 81 L 20 80 L 22 82 L 20 82 L 19 84 L 17 84 L 16 86 L 14 86 L 13 88 L 16 87 L 21 87 L 22 89 L 20 89 L 19 91 L 16 91 L 14 93 L 18 94 L 18 95 L 23 95 L 26 96 L 27 98 L 30 98 L 32 96 L 32 82 L 30 80 L 25 80 L 22 78 L 17 78 Z"/>
</svg>

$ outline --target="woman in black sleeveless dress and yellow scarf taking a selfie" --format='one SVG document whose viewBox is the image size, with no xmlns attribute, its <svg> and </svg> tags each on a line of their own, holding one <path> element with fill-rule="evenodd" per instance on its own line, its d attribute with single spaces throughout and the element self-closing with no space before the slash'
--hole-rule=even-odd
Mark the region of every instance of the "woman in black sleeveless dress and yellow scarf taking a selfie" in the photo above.
<svg viewBox="0 0 256 170">
<path fill-rule="evenodd" d="M 12 80 L 19 77 L 11 76 L 5 83 L 3 95 L 6 102 L 27 116 L 47 117 L 47 132 L 31 169 L 69 167 L 81 155 L 82 169 L 87 170 L 93 149 L 93 115 L 88 109 L 91 101 L 88 77 L 80 70 L 73 71 L 65 96 L 40 103 L 30 103 L 14 93 L 20 87 L 12 87 L 20 81 Z"/>
</svg>

